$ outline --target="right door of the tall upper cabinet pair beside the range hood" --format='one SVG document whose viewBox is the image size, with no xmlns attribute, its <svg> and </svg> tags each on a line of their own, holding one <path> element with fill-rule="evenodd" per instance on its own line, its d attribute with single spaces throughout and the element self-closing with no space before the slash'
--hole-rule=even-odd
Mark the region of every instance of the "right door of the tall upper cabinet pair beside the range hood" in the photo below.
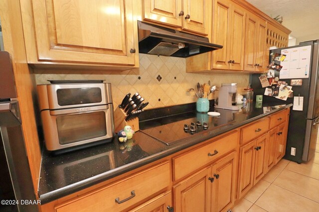
<svg viewBox="0 0 319 212">
<path fill-rule="evenodd" d="M 237 4 L 233 4 L 231 12 L 229 60 L 232 62 L 229 69 L 242 71 L 244 69 L 246 12 Z"/>
</svg>

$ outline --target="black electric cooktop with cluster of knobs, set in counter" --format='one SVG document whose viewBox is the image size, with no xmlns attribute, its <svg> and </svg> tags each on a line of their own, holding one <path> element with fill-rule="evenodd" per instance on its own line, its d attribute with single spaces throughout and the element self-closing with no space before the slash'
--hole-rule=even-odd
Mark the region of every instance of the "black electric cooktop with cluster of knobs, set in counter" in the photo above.
<svg viewBox="0 0 319 212">
<path fill-rule="evenodd" d="M 217 110 L 215 110 L 217 111 Z M 234 113 L 238 111 L 218 110 L 218 117 L 207 113 L 187 112 L 139 123 L 140 131 L 169 145 L 187 137 L 205 133 L 234 121 Z"/>
</svg>

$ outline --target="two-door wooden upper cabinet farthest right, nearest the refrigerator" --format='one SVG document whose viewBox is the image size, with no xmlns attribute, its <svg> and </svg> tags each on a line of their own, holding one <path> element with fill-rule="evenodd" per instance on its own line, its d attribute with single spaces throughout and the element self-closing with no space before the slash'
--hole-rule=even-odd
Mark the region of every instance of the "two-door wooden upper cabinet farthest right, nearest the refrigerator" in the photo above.
<svg viewBox="0 0 319 212">
<path fill-rule="evenodd" d="M 266 21 L 252 13 L 247 14 L 244 71 L 265 71 L 267 54 Z"/>
</svg>

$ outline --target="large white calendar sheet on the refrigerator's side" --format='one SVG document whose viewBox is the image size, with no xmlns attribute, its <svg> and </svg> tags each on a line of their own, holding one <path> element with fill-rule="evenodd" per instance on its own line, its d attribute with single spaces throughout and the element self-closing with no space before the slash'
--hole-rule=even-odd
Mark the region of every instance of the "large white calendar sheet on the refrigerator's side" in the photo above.
<svg viewBox="0 0 319 212">
<path fill-rule="evenodd" d="M 294 79 L 308 78 L 310 71 L 311 46 L 302 46 L 281 50 L 281 54 L 286 55 L 286 59 L 280 63 L 283 68 L 279 78 Z"/>
</svg>

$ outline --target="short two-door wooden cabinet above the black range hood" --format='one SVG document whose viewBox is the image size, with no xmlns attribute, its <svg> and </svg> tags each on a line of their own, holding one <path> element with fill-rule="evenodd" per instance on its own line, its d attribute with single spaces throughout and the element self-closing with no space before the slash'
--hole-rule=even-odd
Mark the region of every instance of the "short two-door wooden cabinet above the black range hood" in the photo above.
<svg viewBox="0 0 319 212">
<path fill-rule="evenodd" d="M 144 19 L 208 36 L 209 0 L 144 0 Z"/>
</svg>

